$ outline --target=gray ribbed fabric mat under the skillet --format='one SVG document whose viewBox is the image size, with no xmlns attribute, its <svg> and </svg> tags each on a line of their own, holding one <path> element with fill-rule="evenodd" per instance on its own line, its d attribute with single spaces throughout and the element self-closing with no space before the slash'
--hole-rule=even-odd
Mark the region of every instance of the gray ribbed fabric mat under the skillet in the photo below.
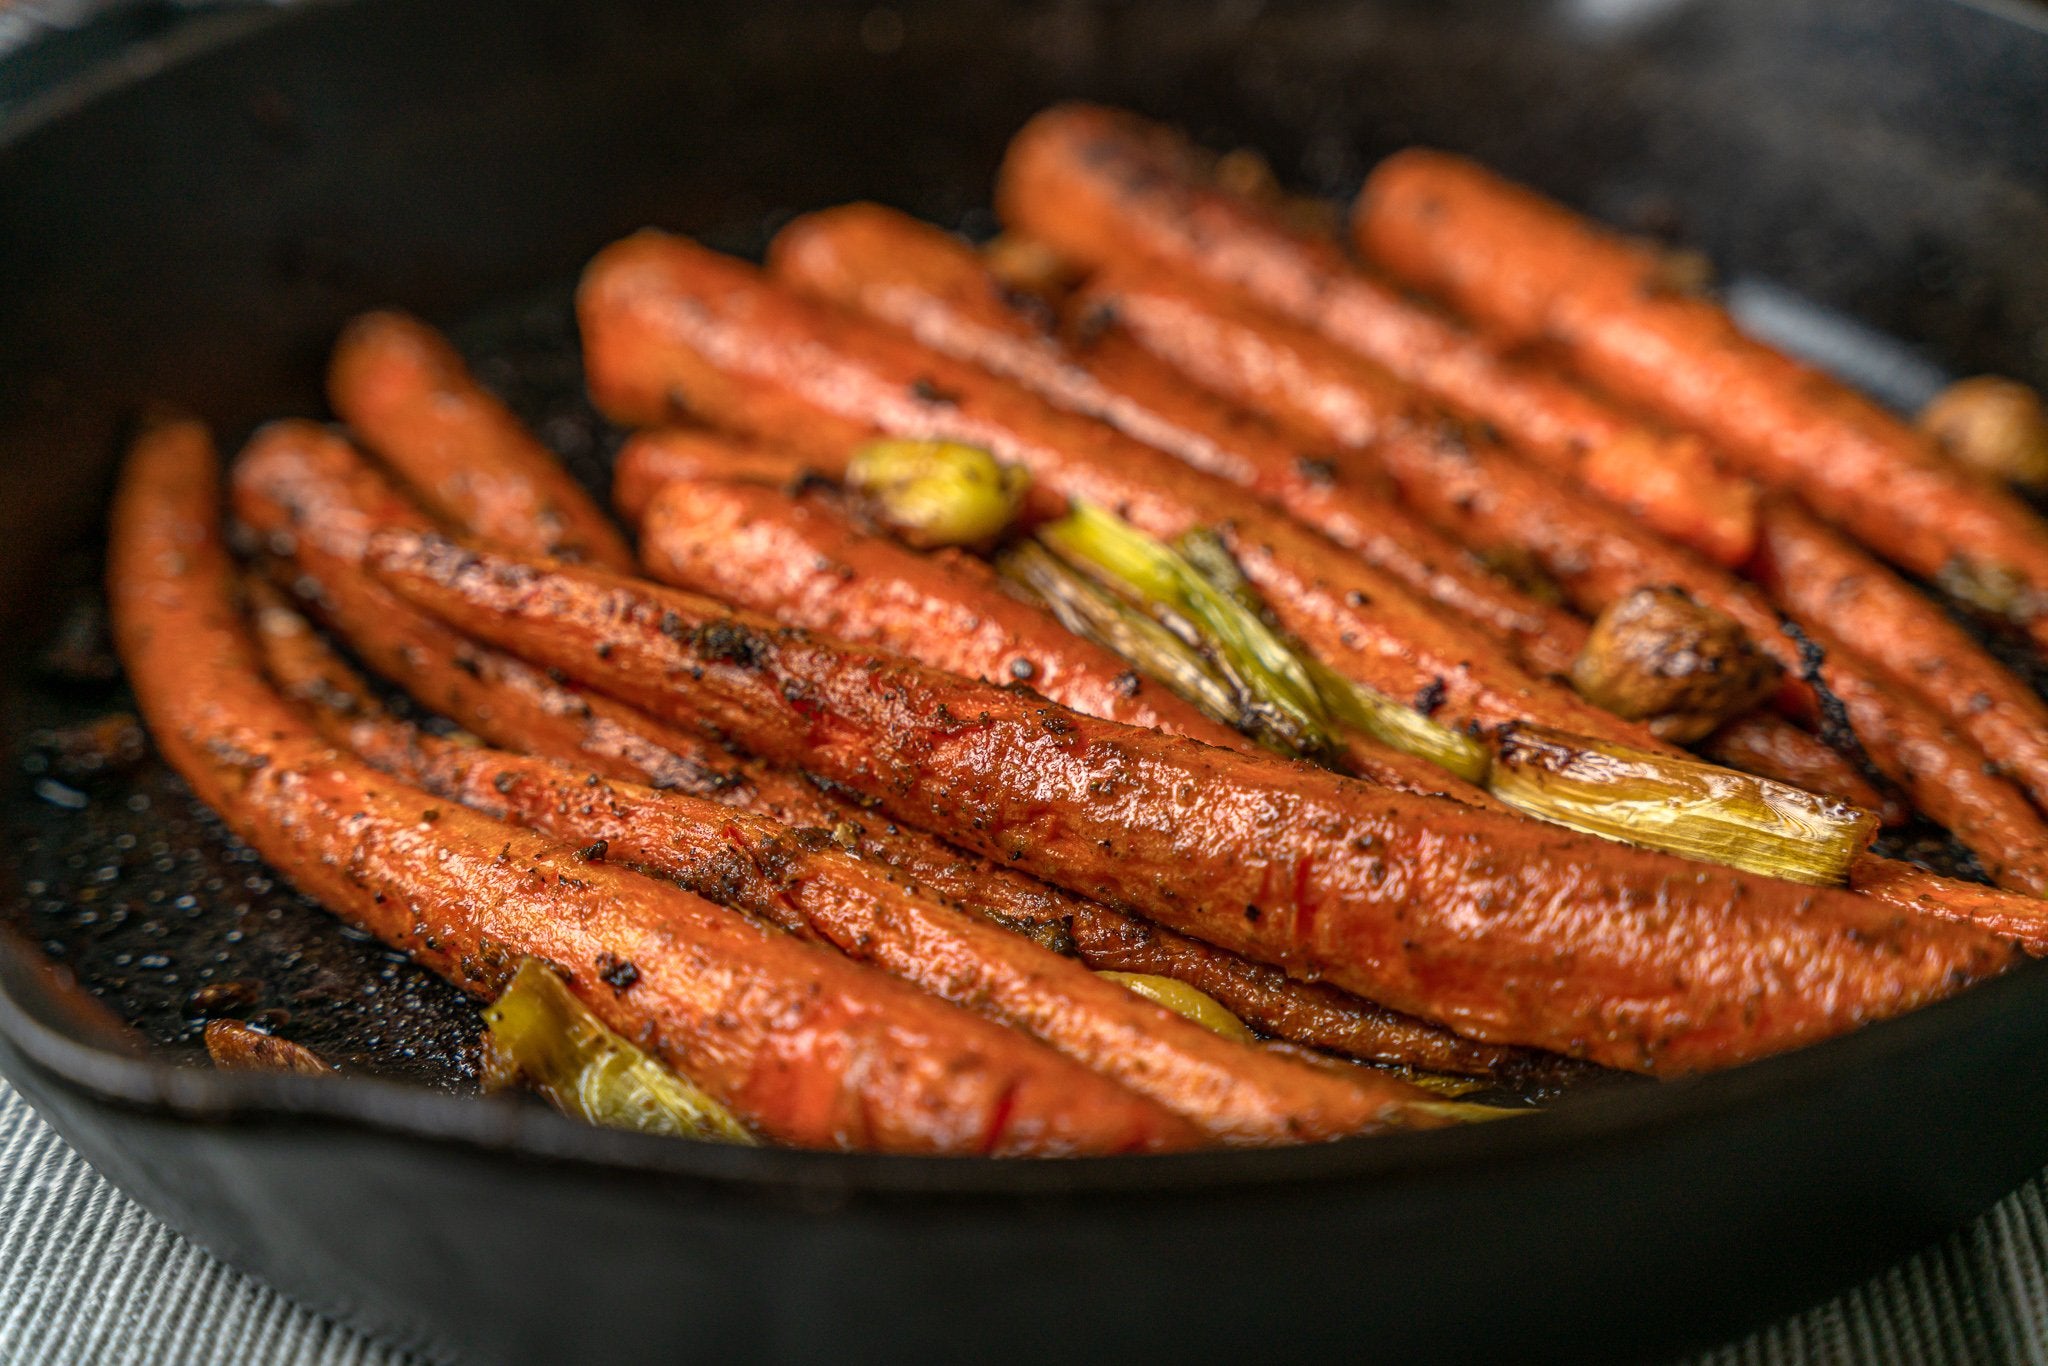
<svg viewBox="0 0 2048 1366">
<path fill-rule="evenodd" d="M 2048 1362 L 2042 1180 L 1972 1229 L 1696 1366 Z M 412 1366 L 215 1262 L 0 1081 L 0 1364 Z"/>
</svg>

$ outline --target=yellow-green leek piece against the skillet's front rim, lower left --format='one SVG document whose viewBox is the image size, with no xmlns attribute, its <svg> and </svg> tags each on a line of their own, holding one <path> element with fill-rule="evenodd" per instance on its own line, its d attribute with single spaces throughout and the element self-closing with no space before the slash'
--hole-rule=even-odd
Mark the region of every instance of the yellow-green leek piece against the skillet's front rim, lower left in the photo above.
<svg viewBox="0 0 2048 1366">
<path fill-rule="evenodd" d="M 528 1085 L 563 1114 L 668 1139 L 754 1145 L 694 1081 L 614 1034 L 539 958 L 483 1008 L 483 1090 Z"/>
</svg>

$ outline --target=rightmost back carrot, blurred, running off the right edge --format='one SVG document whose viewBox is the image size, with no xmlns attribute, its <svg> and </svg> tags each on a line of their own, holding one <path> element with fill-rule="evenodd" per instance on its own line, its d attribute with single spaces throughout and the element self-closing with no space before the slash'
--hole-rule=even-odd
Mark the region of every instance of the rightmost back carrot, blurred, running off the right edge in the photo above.
<svg viewBox="0 0 2048 1366">
<path fill-rule="evenodd" d="M 2048 643 L 2048 526 L 2007 489 L 1847 385 L 1671 289 L 1655 252 L 1462 158 L 1372 172 L 1358 240 L 1511 338 L 1554 346 L 1616 395 L 1706 434 L 1858 541 Z"/>
</svg>

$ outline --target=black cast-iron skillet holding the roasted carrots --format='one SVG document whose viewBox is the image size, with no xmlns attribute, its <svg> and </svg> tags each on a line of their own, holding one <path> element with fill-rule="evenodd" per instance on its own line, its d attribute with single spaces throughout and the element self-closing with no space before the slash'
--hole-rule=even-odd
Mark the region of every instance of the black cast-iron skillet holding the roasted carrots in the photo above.
<svg viewBox="0 0 2048 1366">
<path fill-rule="evenodd" d="M 0 125 L 20 936 L 0 1069 L 229 1262 L 473 1362 L 1642 1360 L 1810 1303 L 2048 1159 L 2048 969 L 1737 1073 L 1415 1139 L 985 1163 L 594 1133 L 461 1094 L 473 1012 L 272 887 L 160 770 L 68 776 L 29 733 L 119 705 L 90 649 L 39 641 L 80 627 L 139 403 L 229 438 L 319 412 L 336 324 L 401 303 L 596 469 L 563 311 L 594 248 L 662 223 L 758 250 L 854 197 L 987 229 L 1006 135 L 1063 94 L 1331 193 L 1411 139 L 1477 152 L 1923 358 L 2040 383 L 2030 6 L 358 0 L 119 23 L 141 41 Z M 207 1071 L 209 1010 L 383 1075 Z"/>
</svg>

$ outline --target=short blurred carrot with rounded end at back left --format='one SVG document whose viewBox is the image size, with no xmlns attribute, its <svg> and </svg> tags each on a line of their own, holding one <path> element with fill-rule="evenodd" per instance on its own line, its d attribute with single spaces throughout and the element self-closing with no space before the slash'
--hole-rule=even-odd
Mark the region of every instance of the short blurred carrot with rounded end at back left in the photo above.
<svg viewBox="0 0 2048 1366">
<path fill-rule="evenodd" d="M 350 322 L 334 344 L 328 399 L 436 514 L 508 549 L 633 567 L 590 494 L 418 317 Z"/>
</svg>

